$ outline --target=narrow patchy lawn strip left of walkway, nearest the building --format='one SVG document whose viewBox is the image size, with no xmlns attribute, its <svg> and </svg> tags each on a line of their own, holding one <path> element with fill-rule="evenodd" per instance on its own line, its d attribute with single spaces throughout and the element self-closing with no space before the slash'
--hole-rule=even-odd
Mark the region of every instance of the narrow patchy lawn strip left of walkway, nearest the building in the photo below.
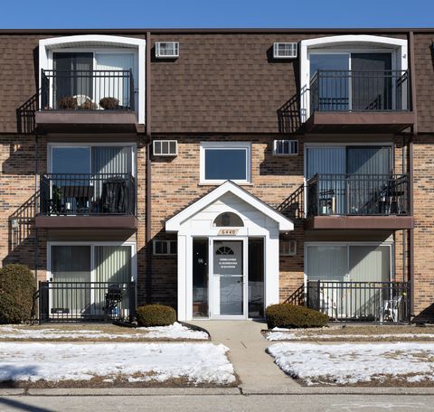
<svg viewBox="0 0 434 412">
<path fill-rule="evenodd" d="M 0 325 L 0 342 L 158 342 L 208 341 L 206 332 L 174 323 L 153 328 L 114 324 Z"/>
</svg>

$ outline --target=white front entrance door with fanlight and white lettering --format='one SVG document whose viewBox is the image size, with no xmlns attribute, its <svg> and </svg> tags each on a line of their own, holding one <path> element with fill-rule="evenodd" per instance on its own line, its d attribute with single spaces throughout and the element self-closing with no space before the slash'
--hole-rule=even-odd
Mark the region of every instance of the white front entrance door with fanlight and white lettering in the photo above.
<svg viewBox="0 0 434 412">
<path fill-rule="evenodd" d="M 213 318 L 245 317 L 243 240 L 212 240 Z"/>
</svg>

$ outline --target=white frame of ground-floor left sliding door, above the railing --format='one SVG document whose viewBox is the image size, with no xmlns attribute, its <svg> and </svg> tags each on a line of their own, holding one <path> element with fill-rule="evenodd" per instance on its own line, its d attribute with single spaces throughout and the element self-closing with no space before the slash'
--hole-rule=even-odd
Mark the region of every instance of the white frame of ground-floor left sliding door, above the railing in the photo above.
<svg viewBox="0 0 434 412">
<path fill-rule="evenodd" d="M 100 241 L 49 241 L 47 242 L 47 272 L 46 278 L 52 278 L 52 246 L 90 246 L 90 282 L 95 282 L 95 247 L 96 246 L 129 246 L 131 247 L 131 281 L 137 282 L 137 243 L 100 242 Z"/>
</svg>

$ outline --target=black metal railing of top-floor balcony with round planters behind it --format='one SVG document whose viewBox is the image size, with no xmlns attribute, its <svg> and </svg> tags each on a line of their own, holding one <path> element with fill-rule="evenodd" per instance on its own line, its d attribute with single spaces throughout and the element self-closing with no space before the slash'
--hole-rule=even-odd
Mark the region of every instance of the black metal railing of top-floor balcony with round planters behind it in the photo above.
<svg viewBox="0 0 434 412">
<path fill-rule="evenodd" d="M 132 110 L 132 70 L 42 70 L 42 110 Z"/>
</svg>

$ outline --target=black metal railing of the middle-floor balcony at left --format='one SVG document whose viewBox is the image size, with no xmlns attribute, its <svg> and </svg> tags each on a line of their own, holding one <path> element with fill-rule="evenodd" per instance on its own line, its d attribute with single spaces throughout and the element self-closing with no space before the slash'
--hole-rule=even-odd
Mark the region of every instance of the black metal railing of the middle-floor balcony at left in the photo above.
<svg viewBox="0 0 434 412">
<path fill-rule="evenodd" d="M 136 214 L 131 173 L 49 173 L 40 179 L 42 216 Z"/>
</svg>

